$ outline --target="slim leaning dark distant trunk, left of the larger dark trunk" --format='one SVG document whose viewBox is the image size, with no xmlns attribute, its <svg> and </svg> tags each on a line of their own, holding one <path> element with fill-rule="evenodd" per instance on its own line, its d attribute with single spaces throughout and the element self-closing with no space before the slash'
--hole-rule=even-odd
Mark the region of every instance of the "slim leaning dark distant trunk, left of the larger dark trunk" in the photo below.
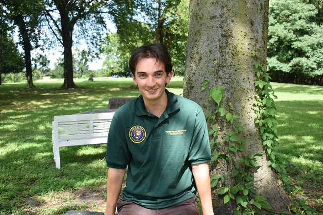
<svg viewBox="0 0 323 215">
<path fill-rule="evenodd" d="M 26 64 L 26 78 L 27 78 L 27 88 L 35 88 L 32 81 L 32 65 L 31 65 L 31 44 L 28 29 L 26 23 L 24 22 L 23 16 L 21 14 L 14 17 L 14 22 L 19 27 L 19 32 L 22 38 L 22 45 L 24 50 L 24 59 Z"/>
</svg>

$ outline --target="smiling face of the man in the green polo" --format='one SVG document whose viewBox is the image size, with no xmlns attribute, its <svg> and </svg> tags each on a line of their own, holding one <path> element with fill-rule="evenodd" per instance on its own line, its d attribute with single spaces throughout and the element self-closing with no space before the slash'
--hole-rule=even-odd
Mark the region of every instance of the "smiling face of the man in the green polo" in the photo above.
<svg viewBox="0 0 323 215">
<path fill-rule="evenodd" d="M 135 76 L 132 79 L 138 85 L 139 91 L 146 101 L 158 101 L 165 95 L 165 85 L 171 80 L 172 73 L 168 75 L 165 64 L 155 58 L 144 58 L 138 61 Z"/>
</svg>

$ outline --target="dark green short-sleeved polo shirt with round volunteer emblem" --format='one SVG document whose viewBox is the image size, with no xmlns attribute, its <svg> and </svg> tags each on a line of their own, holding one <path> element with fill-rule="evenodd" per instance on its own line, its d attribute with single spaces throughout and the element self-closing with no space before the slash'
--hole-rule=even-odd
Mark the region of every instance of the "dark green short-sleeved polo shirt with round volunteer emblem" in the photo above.
<svg viewBox="0 0 323 215">
<path fill-rule="evenodd" d="M 128 166 L 122 199 L 151 209 L 196 197 L 191 165 L 211 158 L 202 108 L 166 93 L 160 118 L 147 112 L 139 96 L 116 111 L 108 135 L 107 166 Z"/>
</svg>

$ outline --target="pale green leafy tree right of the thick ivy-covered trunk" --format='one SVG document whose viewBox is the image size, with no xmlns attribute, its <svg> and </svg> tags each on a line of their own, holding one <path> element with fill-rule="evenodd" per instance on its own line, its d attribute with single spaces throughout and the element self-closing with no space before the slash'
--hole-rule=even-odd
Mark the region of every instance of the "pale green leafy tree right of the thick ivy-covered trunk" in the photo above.
<svg viewBox="0 0 323 215">
<path fill-rule="evenodd" d="M 301 0 L 271 0 L 268 71 L 273 81 L 323 85 L 323 25 Z"/>
</svg>

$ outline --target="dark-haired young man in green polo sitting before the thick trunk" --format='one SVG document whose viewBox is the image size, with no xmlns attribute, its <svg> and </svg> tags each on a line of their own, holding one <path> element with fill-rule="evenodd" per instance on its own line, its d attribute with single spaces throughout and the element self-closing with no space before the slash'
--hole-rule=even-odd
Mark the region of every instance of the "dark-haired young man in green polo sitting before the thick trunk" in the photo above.
<svg viewBox="0 0 323 215">
<path fill-rule="evenodd" d="M 104 215 L 213 215 L 211 157 L 202 108 L 165 89 L 172 77 L 166 47 L 137 48 L 129 60 L 141 96 L 120 107 L 111 122 Z M 127 171 L 126 187 L 118 200 Z"/>
</svg>

